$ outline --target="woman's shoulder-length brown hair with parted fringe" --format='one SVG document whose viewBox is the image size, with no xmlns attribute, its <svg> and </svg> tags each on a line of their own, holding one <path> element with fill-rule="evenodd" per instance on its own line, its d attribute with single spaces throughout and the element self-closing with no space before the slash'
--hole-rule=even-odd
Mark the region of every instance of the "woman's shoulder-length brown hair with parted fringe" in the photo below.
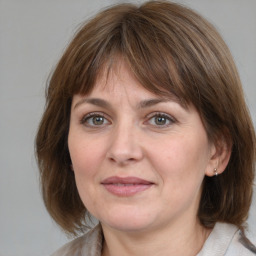
<svg viewBox="0 0 256 256">
<path fill-rule="evenodd" d="M 74 94 L 88 94 L 102 69 L 117 65 L 120 56 L 142 86 L 192 103 L 209 139 L 225 136 L 232 145 L 225 172 L 204 179 L 198 217 L 206 227 L 217 221 L 241 226 L 251 204 L 255 132 L 239 75 L 215 28 L 194 11 L 166 1 L 102 11 L 78 31 L 52 74 L 36 154 L 53 219 L 68 233 L 86 227 L 87 210 L 67 146 L 71 102 Z"/>
</svg>

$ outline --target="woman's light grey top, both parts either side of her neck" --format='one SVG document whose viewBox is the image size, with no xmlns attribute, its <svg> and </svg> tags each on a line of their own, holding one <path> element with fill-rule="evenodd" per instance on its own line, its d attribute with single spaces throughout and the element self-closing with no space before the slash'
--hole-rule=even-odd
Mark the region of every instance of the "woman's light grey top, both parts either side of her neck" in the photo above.
<svg viewBox="0 0 256 256">
<path fill-rule="evenodd" d="M 252 244 L 244 245 L 245 239 L 236 226 L 218 222 L 196 256 L 255 256 L 256 248 Z M 52 256 L 101 256 L 102 240 L 101 226 L 97 225 Z"/>
</svg>

